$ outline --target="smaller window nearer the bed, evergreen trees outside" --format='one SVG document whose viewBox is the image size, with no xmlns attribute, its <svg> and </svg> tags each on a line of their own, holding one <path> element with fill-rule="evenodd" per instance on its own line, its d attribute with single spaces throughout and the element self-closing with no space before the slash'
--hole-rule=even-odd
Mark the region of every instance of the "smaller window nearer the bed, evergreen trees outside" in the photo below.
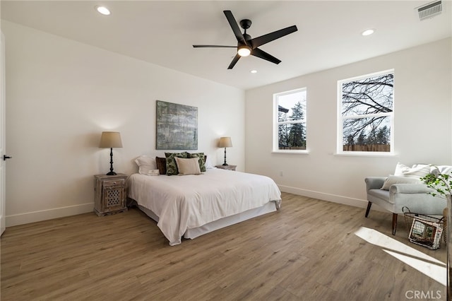
<svg viewBox="0 0 452 301">
<path fill-rule="evenodd" d="M 273 151 L 306 151 L 306 88 L 273 95 Z"/>
</svg>

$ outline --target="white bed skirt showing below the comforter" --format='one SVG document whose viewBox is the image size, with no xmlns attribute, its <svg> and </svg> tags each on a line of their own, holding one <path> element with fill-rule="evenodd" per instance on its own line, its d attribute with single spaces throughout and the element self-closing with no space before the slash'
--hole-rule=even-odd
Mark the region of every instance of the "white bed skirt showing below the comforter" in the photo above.
<svg viewBox="0 0 452 301">
<path fill-rule="evenodd" d="M 143 211 L 147 216 L 149 216 L 158 223 L 158 216 L 156 216 L 155 213 L 153 213 L 153 211 L 150 211 L 148 208 L 145 208 L 141 205 L 138 205 L 138 208 L 140 208 L 141 211 Z M 226 218 L 215 220 L 211 223 L 207 223 L 206 225 L 202 225 L 201 227 L 198 228 L 187 229 L 186 232 L 184 233 L 184 238 L 189 238 L 193 240 L 196 237 L 218 230 L 220 228 L 225 228 L 227 226 L 240 223 L 244 220 L 249 220 L 250 218 L 256 218 L 256 216 L 263 216 L 264 214 L 275 212 L 276 210 L 277 210 L 276 203 L 271 201 L 261 207 L 250 209 L 248 211 L 235 214 L 234 216 L 227 216 Z"/>
</svg>

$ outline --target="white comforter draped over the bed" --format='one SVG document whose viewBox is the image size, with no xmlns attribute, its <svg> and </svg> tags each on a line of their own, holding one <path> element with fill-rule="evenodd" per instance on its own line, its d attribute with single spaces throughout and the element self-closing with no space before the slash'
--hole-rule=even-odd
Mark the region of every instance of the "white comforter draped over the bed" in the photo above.
<svg viewBox="0 0 452 301">
<path fill-rule="evenodd" d="M 258 208 L 281 194 L 273 179 L 244 172 L 208 169 L 202 175 L 129 178 L 128 196 L 155 213 L 170 245 L 180 244 L 187 229 Z"/>
</svg>

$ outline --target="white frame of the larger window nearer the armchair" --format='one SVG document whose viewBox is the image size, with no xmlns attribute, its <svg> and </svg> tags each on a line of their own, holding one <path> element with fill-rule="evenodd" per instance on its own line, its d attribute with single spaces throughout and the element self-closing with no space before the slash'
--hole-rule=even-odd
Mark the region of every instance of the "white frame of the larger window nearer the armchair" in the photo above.
<svg viewBox="0 0 452 301">
<path fill-rule="evenodd" d="M 352 155 L 352 156 L 371 156 L 371 157 L 386 157 L 386 156 L 394 156 L 396 155 L 395 153 L 395 138 L 394 138 L 394 119 L 395 119 L 395 112 L 396 112 L 396 87 L 395 84 L 393 84 L 393 106 L 392 106 L 392 112 L 381 112 L 381 113 L 376 113 L 376 114 L 359 114 L 359 115 L 346 115 L 343 116 L 342 111 L 343 111 L 343 89 L 342 89 L 342 85 L 343 83 L 347 83 L 350 81 L 357 81 L 359 79 L 364 79 L 364 78 L 372 78 L 375 76 L 380 76 L 383 74 L 389 74 L 392 73 L 393 76 L 395 75 L 395 71 L 394 69 L 388 69 L 388 70 L 383 70 L 383 71 L 378 71 L 378 72 L 374 72 L 374 73 L 367 73 L 361 76 L 355 76 L 352 78 L 345 78 L 342 80 L 338 81 L 338 105 L 337 105 L 337 141 L 336 141 L 336 153 L 335 155 Z M 395 83 L 395 80 L 394 80 Z M 383 151 L 344 151 L 343 150 L 343 141 L 344 141 L 344 137 L 343 137 L 343 124 L 344 124 L 344 120 L 345 119 L 351 119 L 351 118 L 355 118 L 355 119 L 359 119 L 359 118 L 367 118 L 367 117 L 375 117 L 375 116 L 380 116 L 380 117 L 389 117 L 389 126 L 390 126 L 390 132 L 389 132 L 389 151 L 388 152 L 383 152 Z"/>
</svg>

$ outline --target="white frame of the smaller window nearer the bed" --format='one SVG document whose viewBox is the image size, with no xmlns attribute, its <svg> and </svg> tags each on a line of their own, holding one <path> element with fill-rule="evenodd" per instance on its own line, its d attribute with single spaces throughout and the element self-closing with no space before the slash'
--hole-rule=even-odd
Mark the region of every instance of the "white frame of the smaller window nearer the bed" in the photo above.
<svg viewBox="0 0 452 301">
<path fill-rule="evenodd" d="M 279 122 L 278 121 L 278 98 L 285 95 L 295 94 L 299 92 L 306 93 L 306 105 L 304 110 L 304 118 L 301 120 L 292 120 L 292 121 L 285 121 L 285 122 Z M 308 103 L 308 91 L 307 87 L 303 88 L 297 88 L 293 90 L 288 90 L 280 93 L 274 93 L 273 94 L 273 141 L 272 141 L 272 153 L 291 153 L 291 154 L 307 154 L 308 151 L 308 131 L 307 131 L 307 105 Z M 280 124 L 304 124 L 304 129 L 306 130 L 306 149 L 304 150 L 280 150 L 279 149 L 279 126 Z"/>
</svg>

